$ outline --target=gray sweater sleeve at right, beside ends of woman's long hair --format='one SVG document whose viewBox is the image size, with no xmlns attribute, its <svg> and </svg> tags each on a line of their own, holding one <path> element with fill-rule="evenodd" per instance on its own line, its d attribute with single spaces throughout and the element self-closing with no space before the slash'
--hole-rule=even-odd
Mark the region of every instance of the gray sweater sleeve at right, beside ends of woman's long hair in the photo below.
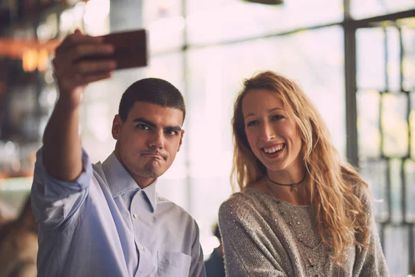
<svg viewBox="0 0 415 277">
<path fill-rule="evenodd" d="M 353 276 L 360 277 L 386 277 L 389 276 L 385 256 L 383 255 L 382 246 L 380 244 L 380 238 L 378 230 L 376 228 L 376 222 L 374 220 L 374 213 L 371 208 L 371 201 L 368 193 L 365 193 L 362 197 L 362 202 L 365 205 L 365 211 L 369 214 L 369 247 L 366 249 L 356 249 L 356 260 L 353 267 Z M 357 235 L 357 239 L 361 240 L 360 235 Z"/>
</svg>

